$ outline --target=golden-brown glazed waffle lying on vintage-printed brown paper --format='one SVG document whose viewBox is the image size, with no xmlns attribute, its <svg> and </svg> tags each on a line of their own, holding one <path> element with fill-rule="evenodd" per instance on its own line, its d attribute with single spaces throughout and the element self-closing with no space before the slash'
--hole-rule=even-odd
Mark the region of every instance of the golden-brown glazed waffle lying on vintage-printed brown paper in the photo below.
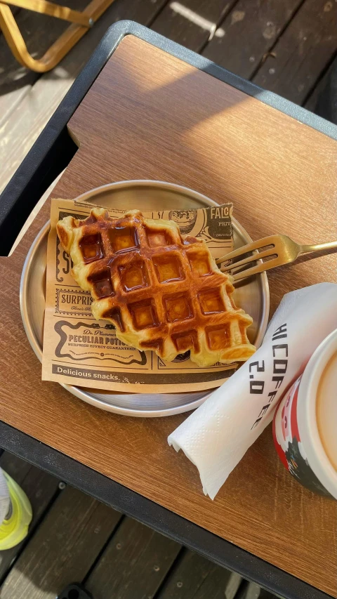
<svg viewBox="0 0 337 599">
<path fill-rule="evenodd" d="M 174 360 L 190 350 L 200 367 L 244 361 L 256 348 L 252 319 L 232 299 L 231 277 L 220 272 L 204 241 L 181 237 L 173 220 L 150 220 L 137 210 L 110 218 L 93 209 L 86 220 L 57 225 L 80 287 L 91 291 L 93 316 L 139 350 Z"/>
</svg>

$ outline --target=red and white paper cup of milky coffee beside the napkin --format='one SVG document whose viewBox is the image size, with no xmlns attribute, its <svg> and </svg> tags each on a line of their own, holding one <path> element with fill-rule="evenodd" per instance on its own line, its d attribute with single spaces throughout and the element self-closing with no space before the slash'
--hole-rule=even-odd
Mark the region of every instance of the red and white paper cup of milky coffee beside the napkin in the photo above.
<svg viewBox="0 0 337 599">
<path fill-rule="evenodd" d="M 279 403 L 273 435 L 291 475 L 311 491 L 337 499 L 337 330 L 322 341 Z"/>
</svg>

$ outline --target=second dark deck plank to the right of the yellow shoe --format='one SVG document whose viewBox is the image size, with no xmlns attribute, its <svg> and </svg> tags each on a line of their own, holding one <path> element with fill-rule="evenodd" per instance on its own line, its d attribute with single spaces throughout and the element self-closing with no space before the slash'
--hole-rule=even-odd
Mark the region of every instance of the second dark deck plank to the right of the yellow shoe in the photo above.
<svg viewBox="0 0 337 599">
<path fill-rule="evenodd" d="M 95 599 L 152 599 L 180 545 L 125 518 L 86 580 Z"/>
</svg>

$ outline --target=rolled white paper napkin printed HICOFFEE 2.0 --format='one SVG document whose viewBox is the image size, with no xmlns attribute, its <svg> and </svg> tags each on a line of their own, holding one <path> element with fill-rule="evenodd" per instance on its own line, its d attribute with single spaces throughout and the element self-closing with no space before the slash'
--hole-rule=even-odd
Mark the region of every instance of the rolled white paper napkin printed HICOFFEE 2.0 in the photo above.
<svg viewBox="0 0 337 599">
<path fill-rule="evenodd" d="M 263 432 L 284 391 L 319 343 L 337 329 L 337 284 L 286 294 L 263 344 L 168 437 L 197 466 L 205 495 L 220 487 Z"/>
</svg>

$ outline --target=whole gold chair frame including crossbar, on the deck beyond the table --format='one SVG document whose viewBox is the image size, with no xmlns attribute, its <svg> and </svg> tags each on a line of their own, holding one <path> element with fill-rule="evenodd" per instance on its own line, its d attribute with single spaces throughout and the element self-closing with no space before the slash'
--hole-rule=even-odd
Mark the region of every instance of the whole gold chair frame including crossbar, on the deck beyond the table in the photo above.
<svg viewBox="0 0 337 599">
<path fill-rule="evenodd" d="M 0 0 L 0 28 L 16 60 L 32 71 L 44 73 L 58 65 L 58 62 L 77 44 L 77 41 L 86 34 L 88 29 L 100 18 L 100 15 L 103 15 L 113 1 L 91 0 L 91 3 L 81 12 L 73 11 L 66 6 L 53 4 L 47 0 Z M 63 19 L 71 22 L 72 25 L 67 27 L 42 58 L 36 60 L 27 50 L 25 40 L 9 5 L 27 8 L 29 11 Z"/>
</svg>

